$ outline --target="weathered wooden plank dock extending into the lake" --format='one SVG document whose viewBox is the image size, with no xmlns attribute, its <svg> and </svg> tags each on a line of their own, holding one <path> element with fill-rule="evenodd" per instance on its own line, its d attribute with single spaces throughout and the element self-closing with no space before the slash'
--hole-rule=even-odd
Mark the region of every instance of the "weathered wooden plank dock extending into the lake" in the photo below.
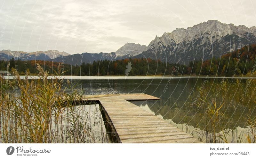
<svg viewBox="0 0 256 159">
<path fill-rule="evenodd" d="M 83 97 L 98 101 L 118 143 L 199 143 L 181 131 L 129 101 L 157 100 L 147 94 L 109 94 Z"/>
</svg>

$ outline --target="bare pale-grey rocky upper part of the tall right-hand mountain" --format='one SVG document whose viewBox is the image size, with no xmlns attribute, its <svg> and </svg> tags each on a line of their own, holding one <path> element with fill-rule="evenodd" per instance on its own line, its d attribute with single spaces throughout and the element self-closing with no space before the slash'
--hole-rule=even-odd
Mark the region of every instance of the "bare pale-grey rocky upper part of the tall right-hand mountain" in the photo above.
<svg viewBox="0 0 256 159">
<path fill-rule="evenodd" d="M 253 26 L 248 28 L 245 25 L 236 26 L 234 24 L 224 24 L 218 20 L 208 20 L 207 22 L 202 22 L 192 27 L 188 27 L 187 29 L 176 28 L 171 33 L 164 33 L 161 37 L 156 36 L 156 38 L 149 43 L 148 49 L 156 48 L 160 45 L 168 46 L 173 42 L 176 44 L 181 42 L 187 43 L 201 38 L 205 40 L 208 38 L 215 41 L 231 34 L 236 34 L 245 38 L 247 32 L 256 36 L 256 27 Z"/>
</svg>

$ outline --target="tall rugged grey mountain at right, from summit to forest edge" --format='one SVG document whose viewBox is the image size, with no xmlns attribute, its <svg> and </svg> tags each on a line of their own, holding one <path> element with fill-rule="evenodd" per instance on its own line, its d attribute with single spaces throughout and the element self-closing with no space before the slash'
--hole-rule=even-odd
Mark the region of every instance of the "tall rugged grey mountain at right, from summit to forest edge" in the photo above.
<svg viewBox="0 0 256 159">
<path fill-rule="evenodd" d="M 256 43 L 256 27 L 223 24 L 218 20 L 177 28 L 152 40 L 147 50 L 133 58 L 148 57 L 170 63 L 207 60 Z"/>
</svg>

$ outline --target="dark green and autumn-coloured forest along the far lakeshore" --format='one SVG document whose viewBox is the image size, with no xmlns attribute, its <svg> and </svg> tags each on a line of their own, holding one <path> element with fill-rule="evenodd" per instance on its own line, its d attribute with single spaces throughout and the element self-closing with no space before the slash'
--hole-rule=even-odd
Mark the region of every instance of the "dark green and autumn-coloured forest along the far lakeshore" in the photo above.
<svg viewBox="0 0 256 159">
<path fill-rule="evenodd" d="M 0 70 L 9 71 L 12 75 L 37 75 L 36 63 L 44 66 L 49 75 L 56 75 L 60 67 L 60 75 L 72 76 L 255 76 L 256 45 L 244 46 L 241 49 L 212 57 L 209 60 L 194 60 L 186 64 L 169 63 L 150 58 L 103 60 L 81 65 L 68 65 L 52 61 L 21 61 L 14 58 L 0 61 Z M 26 64 L 25 64 L 26 62 Z M 8 66 L 8 67 L 7 67 Z M 16 67 L 19 66 L 19 67 Z M 129 67 L 129 71 L 125 70 Z M 173 70 L 179 68 L 177 71 Z M 8 70 L 7 70 L 8 69 Z M 254 70 L 253 70 L 254 69 Z M 128 75 L 126 75 L 128 73 Z"/>
</svg>

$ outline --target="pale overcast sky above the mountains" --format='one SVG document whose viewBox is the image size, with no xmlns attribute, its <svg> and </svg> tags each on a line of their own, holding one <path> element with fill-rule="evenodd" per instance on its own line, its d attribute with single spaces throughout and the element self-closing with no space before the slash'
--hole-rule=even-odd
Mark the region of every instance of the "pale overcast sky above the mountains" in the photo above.
<svg viewBox="0 0 256 159">
<path fill-rule="evenodd" d="M 255 10 L 255 0 L 0 0 L 0 50 L 115 52 L 209 19 L 256 26 Z"/>
</svg>

